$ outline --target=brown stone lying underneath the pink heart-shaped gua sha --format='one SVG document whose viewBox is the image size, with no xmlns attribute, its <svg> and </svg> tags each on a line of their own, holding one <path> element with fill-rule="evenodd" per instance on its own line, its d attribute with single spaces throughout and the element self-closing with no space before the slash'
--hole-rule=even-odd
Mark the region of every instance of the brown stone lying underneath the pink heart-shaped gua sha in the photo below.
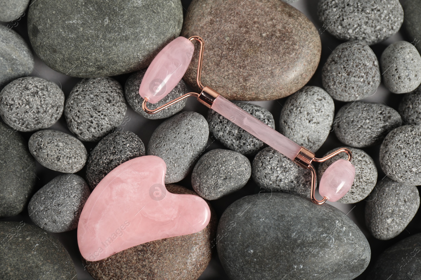
<svg viewBox="0 0 421 280">
<path fill-rule="evenodd" d="M 174 194 L 195 194 L 178 185 L 166 185 Z M 198 233 L 164 238 L 131 247 L 97 262 L 86 261 L 95 279 L 196 280 L 210 262 L 217 220 L 210 206 L 210 222 Z"/>
</svg>

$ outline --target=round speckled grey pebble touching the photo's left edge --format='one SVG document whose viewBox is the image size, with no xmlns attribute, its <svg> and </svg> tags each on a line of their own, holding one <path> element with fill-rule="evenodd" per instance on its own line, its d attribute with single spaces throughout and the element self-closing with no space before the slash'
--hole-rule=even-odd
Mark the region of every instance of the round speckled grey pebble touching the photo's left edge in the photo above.
<svg viewBox="0 0 421 280">
<path fill-rule="evenodd" d="M 0 115 L 19 131 L 48 128 L 61 117 L 64 93 L 51 81 L 23 77 L 12 81 L 0 92 Z"/>
</svg>

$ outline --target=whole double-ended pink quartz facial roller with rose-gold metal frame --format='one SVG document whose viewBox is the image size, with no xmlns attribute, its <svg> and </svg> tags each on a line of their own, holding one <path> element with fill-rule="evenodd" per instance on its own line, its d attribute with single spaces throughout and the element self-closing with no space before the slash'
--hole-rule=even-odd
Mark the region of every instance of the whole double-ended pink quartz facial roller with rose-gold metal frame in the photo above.
<svg viewBox="0 0 421 280">
<path fill-rule="evenodd" d="M 197 65 L 197 85 L 202 92 L 189 92 L 182 95 L 154 110 L 147 108 L 147 102 L 152 104 L 160 101 L 178 84 L 187 67 L 192 60 L 195 47 L 192 41 L 200 42 L 199 63 Z M 327 155 L 326 157 L 317 158 L 315 154 L 305 147 L 300 147 L 273 128 L 267 126 L 262 121 L 248 114 L 240 107 L 229 102 L 227 99 L 219 95 L 214 89 L 203 86 L 200 81 L 202 71 L 203 50 L 205 42 L 199 36 L 192 36 L 189 39 L 178 37 L 170 42 L 161 50 L 160 53 L 152 60 L 144 78 L 139 87 L 139 94 L 144 98 L 142 109 L 149 114 L 154 114 L 168 106 L 179 102 L 189 96 L 197 97 L 197 100 L 208 108 L 215 110 L 228 120 L 231 120 L 237 126 L 248 131 L 253 136 L 284 154 L 290 160 L 303 168 L 311 170 L 312 184 L 310 198 L 316 204 L 323 204 L 326 200 L 337 201 L 344 196 L 351 188 L 354 182 L 355 167 L 351 163 L 352 154 L 349 149 L 341 148 Z M 330 165 L 320 180 L 319 193 L 323 196 L 322 200 L 315 198 L 316 171 L 312 167 L 312 162 L 323 162 L 345 152 L 348 154 L 348 160 L 337 160 Z"/>
</svg>

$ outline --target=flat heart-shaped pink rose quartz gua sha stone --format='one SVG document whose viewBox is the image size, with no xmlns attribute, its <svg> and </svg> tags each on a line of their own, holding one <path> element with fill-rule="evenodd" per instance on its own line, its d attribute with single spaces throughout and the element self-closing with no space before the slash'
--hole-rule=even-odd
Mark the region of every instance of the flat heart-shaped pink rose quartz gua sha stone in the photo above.
<svg viewBox="0 0 421 280">
<path fill-rule="evenodd" d="M 122 163 L 99 182 L 77 227 L 80 254 L 98 261 L 142 243 L 197 233 L 209 223 L 205 200 L 165 188 L 166 165 L 155 156 Z"/>
</svg>

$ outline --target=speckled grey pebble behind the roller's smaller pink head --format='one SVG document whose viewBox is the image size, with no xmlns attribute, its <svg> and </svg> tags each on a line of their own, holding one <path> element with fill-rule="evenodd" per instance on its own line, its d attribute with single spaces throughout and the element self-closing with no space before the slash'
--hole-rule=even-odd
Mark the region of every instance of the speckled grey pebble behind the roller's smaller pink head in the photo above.
<svg viewBox="0 0 421 280">
<path fill-rule="evenodd" d="M 374 160 L 363 150 L 346 147 L 352 153 L 352 160 L 351 163 L 355 167 L 355 176 L 354 176 L 354 183 L 350 190 L 338 200 L 341 203 L 356 203 L 365 199 L 370 192 L 373 190 L 374 186 L 376 186 L 377 182 L 377 168 Z M 332 149 L 324 156 L 336 151 L 336 149 Z M 335 157 L 322 162 L 317 170 L 318 178 L 322 178 L 323 173 L 325 170 L 336 160 L 343 159 L 346 160 L 348 155 L 345 153 L 341 153 L 336 155 Z M 321 185 L 321 183 L 320 183 Z"/>
</svg>

